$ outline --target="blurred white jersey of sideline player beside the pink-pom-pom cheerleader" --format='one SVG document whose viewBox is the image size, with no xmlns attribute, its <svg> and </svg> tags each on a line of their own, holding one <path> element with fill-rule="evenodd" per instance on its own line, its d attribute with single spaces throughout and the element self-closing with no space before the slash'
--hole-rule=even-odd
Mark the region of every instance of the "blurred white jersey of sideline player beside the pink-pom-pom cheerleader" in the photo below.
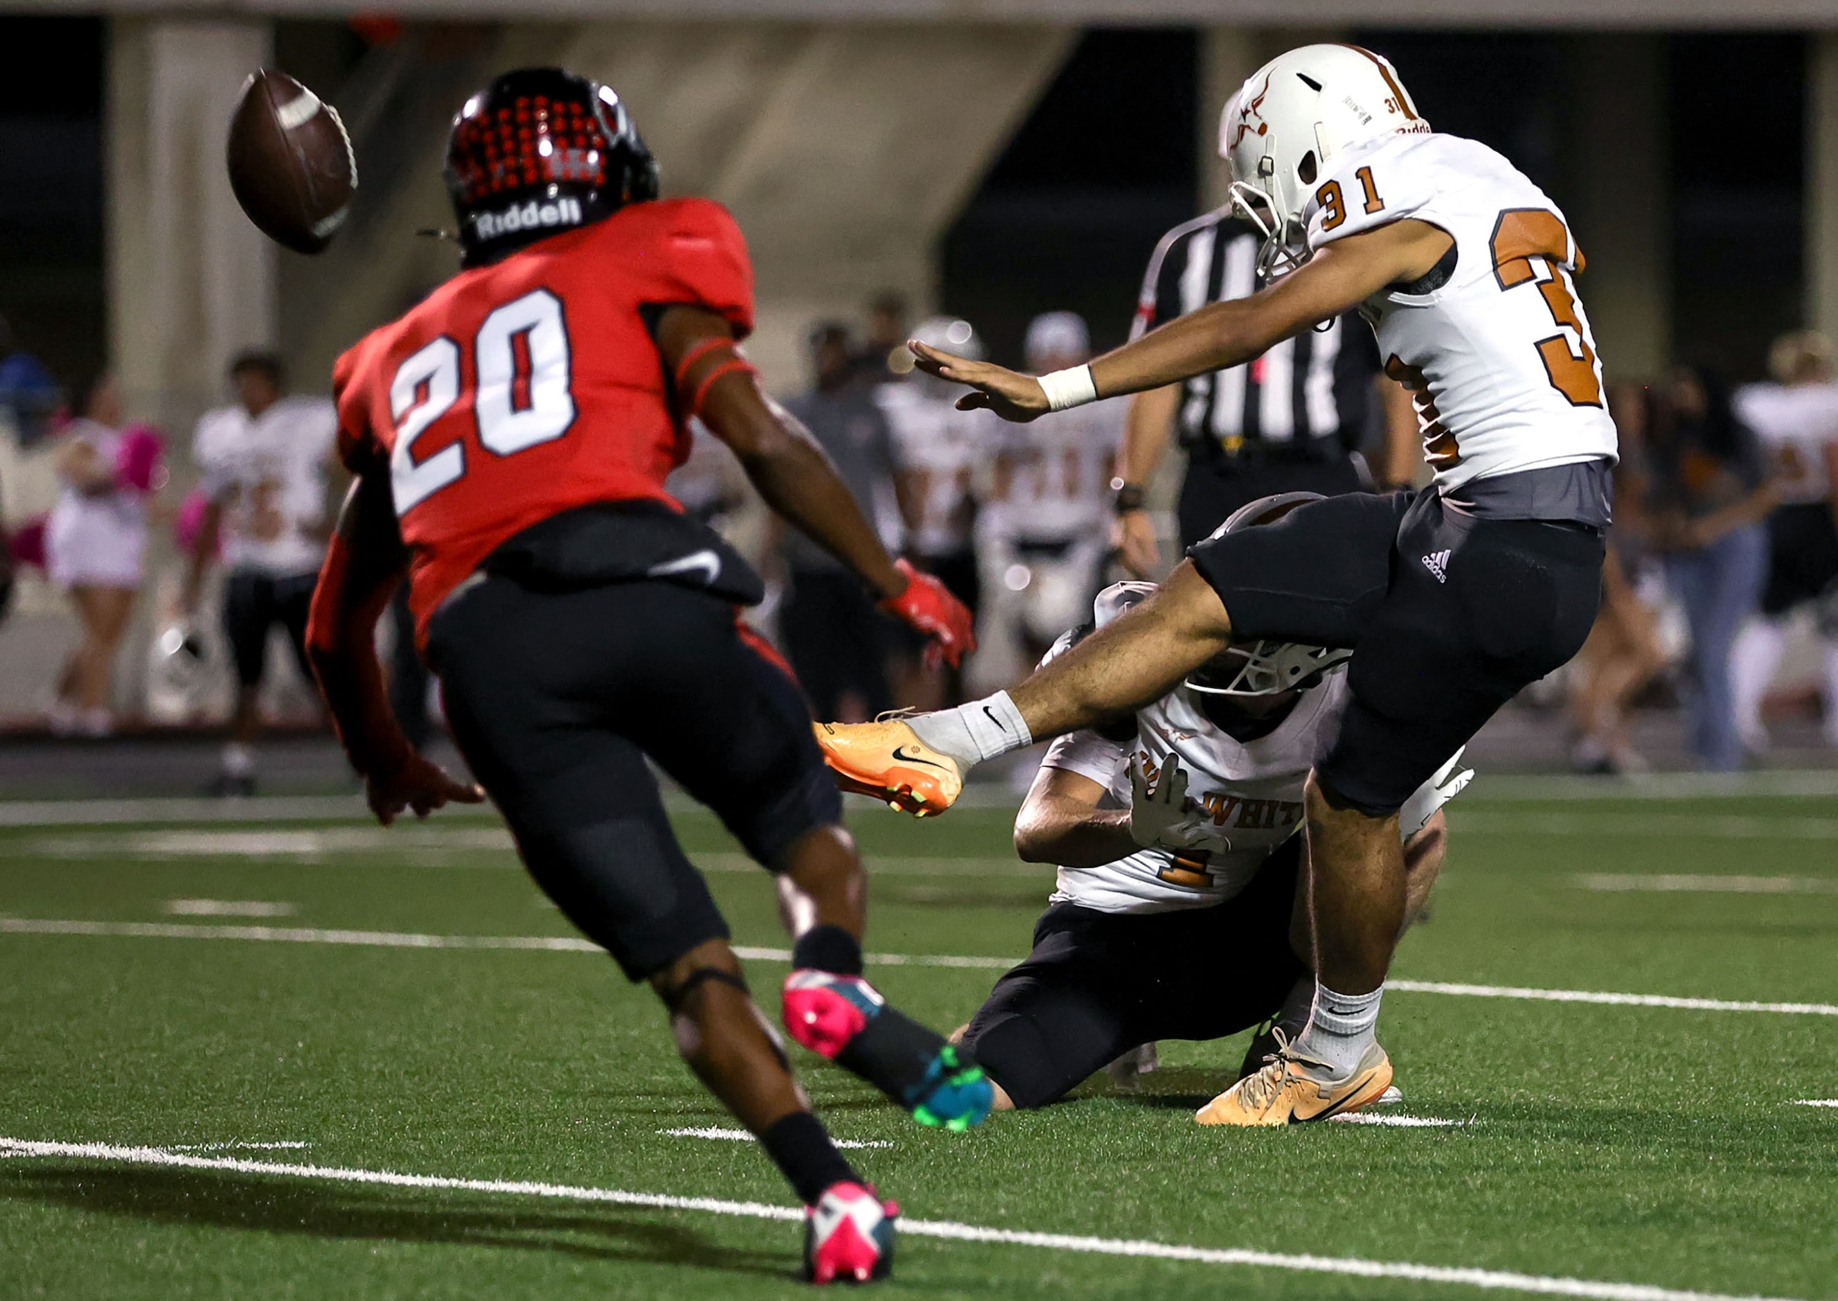
<svg viewBox="0 0 1838 1301">
<path fill-rule="evenodd" d="M 199 421 L 191 456 L 200 489 L 222 507 L 230 570 L 292 577 L 320 568 L 325 544 L 309 529 L 325 522 L 325 463 L 338 410 L 325 399 L 283 397 L 250 419 L 222 406 Z"/>
</svg>

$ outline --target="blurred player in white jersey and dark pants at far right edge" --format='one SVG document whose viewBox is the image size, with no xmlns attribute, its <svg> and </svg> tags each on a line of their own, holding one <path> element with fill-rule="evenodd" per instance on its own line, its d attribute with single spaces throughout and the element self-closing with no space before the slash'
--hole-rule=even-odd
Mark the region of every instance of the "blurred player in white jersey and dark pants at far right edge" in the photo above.
<svg viewBox="0 0 1838 1301">
<path fill-rule="evenodd" d="M 1737 390 L 1735 412 L 1768 454 L 1774 494 L 1768 516 L 1768 584 L 1761 617 L 1735 641 L 1737 728 L 1753 753 L 1768 748 L 1761 700 L 1781 663 L 1790 614 L 1838 581 L 1838 384 L 1831 342 L 1814 331 L 1783 334 L 1768 355 L 1772 384 Z M 1838 746 L 1838 636 L 1823 632 L 1825 739 Z"/>
</svg>

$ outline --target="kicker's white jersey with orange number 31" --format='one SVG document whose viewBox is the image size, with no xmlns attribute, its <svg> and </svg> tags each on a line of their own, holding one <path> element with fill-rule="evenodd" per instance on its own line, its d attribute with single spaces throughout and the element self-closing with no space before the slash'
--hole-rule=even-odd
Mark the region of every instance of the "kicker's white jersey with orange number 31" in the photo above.
<svg viewBox="0 0 1838 1301">
<path fill-rule="evenodd" d="M 1428 292 L 1373 294 L 1360 314 L 1386 373 L 1415 397 L 1437 485 L 1614 463 L 1601 360 L 1575 290 L 1583 254 L 1557 204 L 1487 145 L 1428 134 L 1342 154 L 1303 209 L 1310 250 L 1406 217 L 1454 237 L 1454 270 Z"/>
</svg>

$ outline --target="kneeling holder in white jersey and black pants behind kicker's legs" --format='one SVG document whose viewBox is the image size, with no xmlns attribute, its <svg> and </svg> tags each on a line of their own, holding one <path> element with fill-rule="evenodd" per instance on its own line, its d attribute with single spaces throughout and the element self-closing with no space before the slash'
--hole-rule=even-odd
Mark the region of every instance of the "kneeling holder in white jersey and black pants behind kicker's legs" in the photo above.
<svg viewBox="0 0 1838 1301">
<path fill-rule="evenodd" d="M 1268 496 L 1226 529 L 1281 518 L 1316 494 Z M 1106 588 L 1077 645 L 1154 590 Z M 1049 656 L 1051 658 L 1051 656 Z M 1239 1077 L 1309 1020 L 1301 807 L 1309 766 L 1347 706 L 1344 650 L 1231 649 L 1121 726 L 1059 737 L 1015 818 L 1027 862 L 1059 864 L 1033 954 L 996 981 L 965 1027 L 1002 1090 L 996 1106 L 1046 1106 L 1158 1038 L 1211 1040 L 1274 1022 Z M 1437 812 L 1474 775 L 1459 753 L 1399 814 L 1406 924 L 1443 865 Z M 1202 994 L 1204 990 L 1204 994 Z M 1200 1125 L 1213 1125 L 1211 1106 Z"/>
</svg>

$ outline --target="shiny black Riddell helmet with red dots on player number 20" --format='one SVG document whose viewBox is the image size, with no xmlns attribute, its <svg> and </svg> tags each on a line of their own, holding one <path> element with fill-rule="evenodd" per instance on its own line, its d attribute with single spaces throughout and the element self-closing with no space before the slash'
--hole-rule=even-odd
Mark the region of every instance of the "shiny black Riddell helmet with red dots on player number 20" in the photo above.
<svg viewBox="0 0 1838 1301">
<path fill-rule="evenodd" d="M 658 164 L 619 96 L 562 68 L 518 68 L 471 96 L 445 176 L 463 266 L 658 197 Z"/>
</svg>

